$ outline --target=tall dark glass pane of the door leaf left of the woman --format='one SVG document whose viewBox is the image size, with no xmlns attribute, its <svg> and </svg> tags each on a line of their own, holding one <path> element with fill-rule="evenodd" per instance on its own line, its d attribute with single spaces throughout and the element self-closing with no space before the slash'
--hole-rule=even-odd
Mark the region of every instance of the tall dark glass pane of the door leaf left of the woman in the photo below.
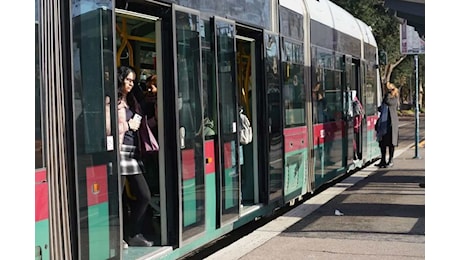
<svg viewBox="0 0 460 260">
<path fill-rule="evenodd" d="M 112 13 L 97 9 L 73 18 L 74 106 L 78 154 L 107 150 L 106 95 L 113 82 Z M 78 33 L 77 33 L 78 32 Z M 95 42 L 101 48 L 95 48 Z M 107 80 L 108 79 L 108 80 Z"/>
</svg>

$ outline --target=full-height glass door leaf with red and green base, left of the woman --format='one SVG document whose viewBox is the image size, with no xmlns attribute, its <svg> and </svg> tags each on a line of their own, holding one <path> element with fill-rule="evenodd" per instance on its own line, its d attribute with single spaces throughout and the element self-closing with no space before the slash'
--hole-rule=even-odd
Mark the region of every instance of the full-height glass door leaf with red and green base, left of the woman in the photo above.
<svg viewBox="0 0 460 260">
<path fill-rule="evenodd" d="M 72 107 L 79 259 L 119 258 L 121 232 L 113 12 L 73 10 Z M 80 13 L 79 13 L 80 12 Z"/>
</svg>

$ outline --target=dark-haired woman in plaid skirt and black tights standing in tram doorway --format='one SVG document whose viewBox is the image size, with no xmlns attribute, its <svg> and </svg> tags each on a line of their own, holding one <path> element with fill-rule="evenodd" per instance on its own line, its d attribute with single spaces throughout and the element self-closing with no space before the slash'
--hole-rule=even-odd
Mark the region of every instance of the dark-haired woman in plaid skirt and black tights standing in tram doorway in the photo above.
<svg viewBox="0 0 460 260">
<path fill-rule="evenodd" d="M 131 90 L 134 86 L 136 73 L 130 67 L 122 66 L 118 69 L 118 132 L 120 142 L 120 174 L 122 190 L 130 191 L 135 200 L 130 203 L 130 216 L 128 217 L 127 203 L 123 203 L 123 246 L 153 245 L 141 233 L 145 212 L 150 202 L 149 186 L 144 178 L 144 165 L 140 160 L 138 147 L 138 129 L 142 116 L 141 108 Z M 125 182 L 129 185 L 126 185 Z M 129 187 L 129 189 L 128 189 Z M 125 188 L 127 188 L 125 190 Z M 129 223 L 130 228 L 127 229 Z"/>
</svg>

